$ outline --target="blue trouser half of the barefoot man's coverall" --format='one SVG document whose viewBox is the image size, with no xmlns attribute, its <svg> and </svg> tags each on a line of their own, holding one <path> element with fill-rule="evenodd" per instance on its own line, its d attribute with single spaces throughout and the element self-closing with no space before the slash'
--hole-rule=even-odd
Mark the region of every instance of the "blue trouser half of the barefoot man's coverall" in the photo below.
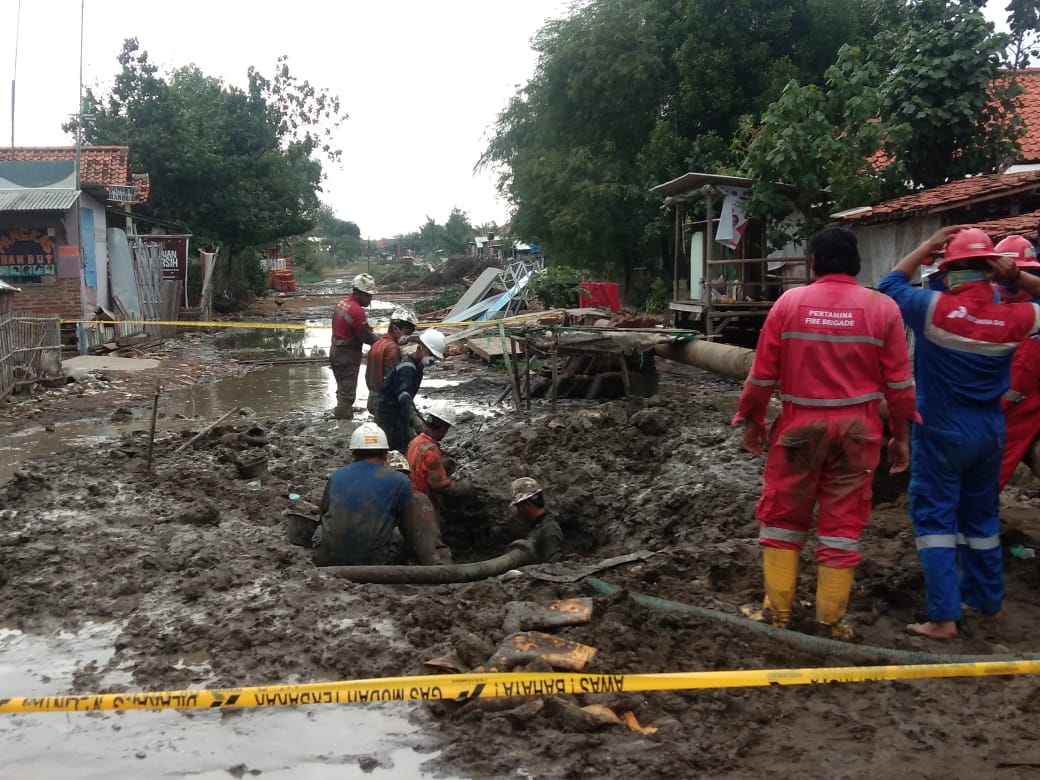
<svg viewBox="0 0 1040 780">
<path fill-rule="evenodd" d="M 913 426 L 910 522 L 931 621 L 959 620 L 961 602 L 987 615 L 1000 610 L 1003 451 L 998 413 L 956 432 Z"/>
</svg>

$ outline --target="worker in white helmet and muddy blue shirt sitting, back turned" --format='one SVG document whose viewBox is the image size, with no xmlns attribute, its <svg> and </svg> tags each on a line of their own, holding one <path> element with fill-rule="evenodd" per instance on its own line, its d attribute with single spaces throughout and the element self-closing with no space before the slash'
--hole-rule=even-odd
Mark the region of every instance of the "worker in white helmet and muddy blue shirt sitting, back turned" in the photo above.
<svg viewBox="0 0 1040 780">
<path fill-rule="evenodd" d="M 408 558 L 402 528 L 412 513 L 412 484 L 387 468 L 386 434 L 365 422 L 350 436 L 354 463 L 336 469 L 321 498 L 314 531 L 317 566 L 379 566 Z"/>
</svg>

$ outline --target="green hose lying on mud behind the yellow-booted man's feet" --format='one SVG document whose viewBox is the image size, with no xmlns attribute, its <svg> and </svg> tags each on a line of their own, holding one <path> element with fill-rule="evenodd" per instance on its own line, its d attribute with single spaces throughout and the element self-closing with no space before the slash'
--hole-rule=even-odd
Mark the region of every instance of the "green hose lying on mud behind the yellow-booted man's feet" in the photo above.
<svg viewBox="0 0 1040 780">
<path fill-rule="evenodd" d="M 621 593 L 620 588 L 616 588 L 609 582 L 604 582 L 602 579 L 597 579 L 596 577 L 587 577 L 586 582 L 596 593 L 603 596 L 614 596 Z M 810 636 L 807 633 L 800 633 L 786 628 L 777 628 L 769 623 L 759 623 L 737 615 L 720 612 L 719 609 L 693 606 L 678 601 L 657 598 L 656 596 L 632 593 L 631 591 L 628 592 L 628 598 L 640 606 L 646 606 L 650 609 L 683 613 L 704 618 L 705 620 L 713 620 L 718 623 L 735 626 L 751 633 L 791 645 L 799 650 L 804 650 L 814 655 L 841 655 L 849 657 L 872 655 L 904 664 L 972 664 L 991 660 L 1040 660 L 1040 653 L 1022 653 L 1020 655 L 943 655 L 940 653 L 925 653 L 917 650 L 898 650 L 888 647 L 874 647 L 873 645 L 855 645 L 847 642 L 838 642 L 826 636 Z"/>
</svg>

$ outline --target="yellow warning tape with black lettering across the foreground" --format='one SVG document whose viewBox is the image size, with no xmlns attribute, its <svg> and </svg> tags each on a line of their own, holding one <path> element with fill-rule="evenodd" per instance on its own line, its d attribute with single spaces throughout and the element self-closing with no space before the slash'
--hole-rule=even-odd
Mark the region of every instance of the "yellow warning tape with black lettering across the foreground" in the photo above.
<svg viewBox="0 0 1040 780">
<path fill-rule="evenodd" d="M 890 667 L 763 669 L 666 674 L 495 673 L 382 677 L 260 687 L 160 693 L 0 698 L 0 712 L 74 712 L 97 709 L 191 709 L 357 704 L 388 701 L 468 701 L 518 696 L 700 688 L 815 685 L 834 682 L 989 677 L 1040 673 L 1040 660 L 918 664 Z"/>
</svg>

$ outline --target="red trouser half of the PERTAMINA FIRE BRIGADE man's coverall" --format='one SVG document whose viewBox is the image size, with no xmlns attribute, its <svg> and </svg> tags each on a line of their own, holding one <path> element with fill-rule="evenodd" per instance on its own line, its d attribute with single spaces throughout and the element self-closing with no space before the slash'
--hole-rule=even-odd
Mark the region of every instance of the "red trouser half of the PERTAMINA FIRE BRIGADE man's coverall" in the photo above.
<svg viewBox="0 0 1040 780">
<path fill-rule="evenodd" d="M 801 550 L 818 504 L 816 561 L 834 569 L 858 566 L 880 458 L 877 415 L 784 409 L 770 431 L 762 496 L 755 510 L 758 544 Z"/>
</svg>

